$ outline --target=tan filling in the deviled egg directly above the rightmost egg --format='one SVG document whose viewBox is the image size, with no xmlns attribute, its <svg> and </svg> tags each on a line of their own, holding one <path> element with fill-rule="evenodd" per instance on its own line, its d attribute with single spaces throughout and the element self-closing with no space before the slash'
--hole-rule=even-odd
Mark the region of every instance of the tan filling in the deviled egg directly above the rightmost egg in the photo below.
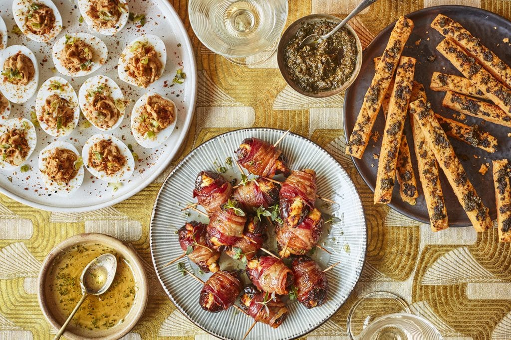
<svg viewBox="0 0 511 340">
<path fill-rule="evenodd" d="M 144 88 L 157 81 L 162 65 L 154 46 L 136 41 L 130 51 L 133 52 L 133 56 L 126 64 L 128 75 Z"/>
</svg>

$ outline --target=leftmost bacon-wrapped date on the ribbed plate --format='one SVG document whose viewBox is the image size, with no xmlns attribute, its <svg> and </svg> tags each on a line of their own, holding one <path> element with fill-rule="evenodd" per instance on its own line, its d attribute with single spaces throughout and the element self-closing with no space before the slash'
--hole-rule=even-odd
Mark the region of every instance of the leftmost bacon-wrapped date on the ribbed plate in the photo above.
<svg viewBox="0 0 511 340">
<path fill-rule="evenodd" d="M 179 245 L 188 252 L 188 258 L 204 272 L 216 272 L 220 269 L 220 252 L 207 246 L 206 225 L 191 221 L 177 231 Z M 192 251 L 189 252 L 189 247 Z"/>
</svg>

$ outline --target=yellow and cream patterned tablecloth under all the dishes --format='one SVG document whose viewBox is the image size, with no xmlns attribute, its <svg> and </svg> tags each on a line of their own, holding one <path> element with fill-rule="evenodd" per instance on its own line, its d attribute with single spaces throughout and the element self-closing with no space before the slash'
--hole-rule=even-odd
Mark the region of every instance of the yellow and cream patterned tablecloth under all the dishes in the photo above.
<svg viewBox="0 0 511 340">
<path fill-rule="evenodd" d="M 287 23 L 310 13 L 342 17 L 358 2 L 290 0 Z M 402 296 L 446 339 L 511 338 L 511 249 L 497 242 L 496 229 L 479 234 L 470 227 L 432 233 L 428 225 L 375 206 L 371 191 L 344 155 L 342 95 L 327 99 L 297 95 L 286 86 L 274 56 L 248 68 L 214 55 L 192 32 L 188 2 L 171 3 L 190 33 L 198 65 L 197 109 L 182 152 L 141 193 L 95 212 L 48 213 L 0 195 L 0 339 L 55 334 L 39 310 L 37 273 L 56 244 L 81 232 L 110 234 L 144 259 L 150 299 L 144 317 L 127 338 L 209 338 L 176 310 L 161 289 L 151 264 L 149 220 L 161 182 L 185 154 L 216 135 L 250 126 L 291 128 L 325 147 L 350 173 L 364 202 L 368 246 L 360 282 L 339 312 L 305 338 L 347 338 L 347 312 L 358 296 L 377 290 Z M 480 7 L 511 18 L 511 1 L 380 0 L 352 20 L 353 27 L 365 46 L 399 15 L 445 4 Z M 384 306 L 385 301 L 376 301 L 374 308 Z"/>
</svg>

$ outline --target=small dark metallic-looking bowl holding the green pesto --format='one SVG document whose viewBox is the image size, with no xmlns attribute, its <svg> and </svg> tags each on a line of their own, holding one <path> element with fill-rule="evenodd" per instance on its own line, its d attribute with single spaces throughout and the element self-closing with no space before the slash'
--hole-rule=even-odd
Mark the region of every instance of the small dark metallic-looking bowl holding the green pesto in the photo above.
<svg viewBox="0 0 511 340">
<path fill-rule="evenodd" d="M 351 34 L 355 37 L 356 44 L 357 44 L 357 62 L 355 64 L 355 69 L 353 70 L 353 73 L 350 77 L 350 79 L 344 83 L 341 87 L 337 89 L 333 89 L 330 91 L 324 91 L 324 92 L 307 92 L 302 90 L 298 85 L 296 85 L 290 78 L 289 73 L 286 69 L 286 63 L 284 62 L 284 49 L 286 48 L 287 44 L 291 39 L 293 39 L 296 36 L 296 33 L 298 30 L 306 23 L 306 22 L 318 22 L 318 21 L 331 21 L 335 23 L 341 22 L 341 19 L 338 17 L 335 17 L 333 15 L 328 14 L 311 14 L 308 16 L 304 16 L 303 18 L 300 18 L 293 22 L 291 25 L 289 25 L 288 29 L 284 34 L 282 35 L 281 40 L 278 42 L 277 47 L 277 63 L 278 63 L 278 69 L 280 69 L 282 76 L 284 77 L 284 80 L 291 86 L 296 92 L 306 95 L 308 97 L 316 97 L 316 98 L 323 98 L 323 97 L 330 97 L 335 94 L 338 94 L 345 89 L 349 88 L 355 79 L 358 76 L 358 73 L 360 72 L 360 67 L 362 66 L 362 44 L 360 43 L 360 39 L 355 32 L 351 28 L 349 24 L 345 24 L 345 28 L 348 29 Z"/>
</svg>

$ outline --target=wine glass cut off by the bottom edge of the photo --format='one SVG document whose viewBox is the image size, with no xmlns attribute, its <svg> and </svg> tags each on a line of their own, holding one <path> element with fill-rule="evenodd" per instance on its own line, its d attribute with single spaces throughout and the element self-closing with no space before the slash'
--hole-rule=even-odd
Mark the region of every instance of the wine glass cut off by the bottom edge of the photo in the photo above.
<svg viewBox="0 0 511 340">
<path fill-rule="evenodd" d="M 382 305 L 381 299 L 387 303 Z M 346 329 L 357 340 L 442 340 L 431 322 L 413 315 L 405 300 L 389 292 L 373 292 L 357 300 Z"/>
</svg>

